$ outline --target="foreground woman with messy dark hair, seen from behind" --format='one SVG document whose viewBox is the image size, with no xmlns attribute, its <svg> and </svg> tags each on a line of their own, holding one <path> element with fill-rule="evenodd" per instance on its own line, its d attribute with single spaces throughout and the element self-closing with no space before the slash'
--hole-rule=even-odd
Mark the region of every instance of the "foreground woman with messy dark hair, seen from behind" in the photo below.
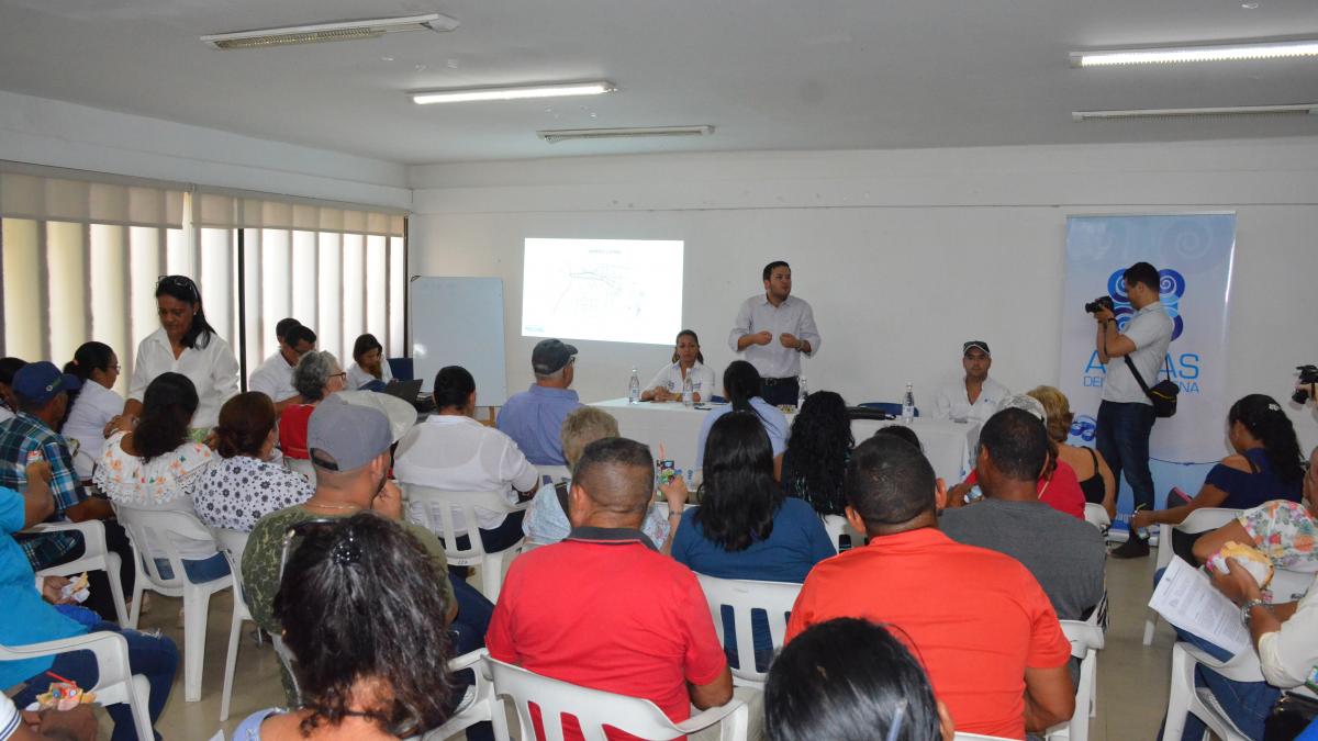
<svg viewBox="0 0 1318 741">
<path fill-rule="evenodd" d="M 409 738 L 442 725 L 453 688 L 449 605 L 430 554 L 369 512 L 297 531 L 274 616 L 302 705 L 256 712 L 233 738 Z"/>
</svg>

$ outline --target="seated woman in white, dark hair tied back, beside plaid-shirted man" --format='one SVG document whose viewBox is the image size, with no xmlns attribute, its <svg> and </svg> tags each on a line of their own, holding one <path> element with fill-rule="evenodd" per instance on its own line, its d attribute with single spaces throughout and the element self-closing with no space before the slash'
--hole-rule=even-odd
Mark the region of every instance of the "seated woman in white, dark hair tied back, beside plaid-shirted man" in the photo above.
<svg viewBox="0 0 1318 741">
<path fill-rule="evenodd" d="M 124 397 L 111 390 L 119 380 L 119 356 L 108 344 L 83 343 L 65 365 L 65 373 L 83 382 L 69 407 L 62 431 L 65 438 L 78 440 L 74 472 L 87 480 L 100 460 L 105 435 L 113 431 L 112 423 L 124 409 Z"/>
</svg>

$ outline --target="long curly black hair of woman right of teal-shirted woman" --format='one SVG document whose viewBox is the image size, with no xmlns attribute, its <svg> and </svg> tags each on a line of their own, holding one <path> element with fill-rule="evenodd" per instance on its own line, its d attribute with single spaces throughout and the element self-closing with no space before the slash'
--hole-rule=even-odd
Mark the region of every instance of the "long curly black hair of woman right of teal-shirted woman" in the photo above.
<svg viewBox="0 0 1318 741">
<path fill-rule="evenodd" d="M 834 392 L 805 397 L 783 454 L 783 492 L 809 502 L 821 517 L 842 514 L 842 477 L 854 447 L 851 417 L 842 397 Z"/>
</svg>

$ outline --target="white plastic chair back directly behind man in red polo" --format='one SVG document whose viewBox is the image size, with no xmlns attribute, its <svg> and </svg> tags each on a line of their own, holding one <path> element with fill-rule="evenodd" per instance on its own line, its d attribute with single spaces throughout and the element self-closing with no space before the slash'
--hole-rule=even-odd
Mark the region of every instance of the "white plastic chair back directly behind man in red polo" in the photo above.
<svg viewBox="0 0 1318 741">
<path fill-rule="evenodd" d="M 531 704 L 540 709 L 546 741 L 563 741 L 563 716 L 577 719 L 585 741 L 605 741 L 604 726 L 617 728 L 639 738 L 668 740 L 697 733 L 722 724 L 722 741 L 745 741 L 750 712 L 733 697 L 725 705 L 702 711 L 689 720 L 673 723 L 650 700 L 577 687 L 522 667 L 486 658 L 494 675 L 494 692 L 511 697 L 517 705 L 521 737 L 534 738 Z"/>
</svg>

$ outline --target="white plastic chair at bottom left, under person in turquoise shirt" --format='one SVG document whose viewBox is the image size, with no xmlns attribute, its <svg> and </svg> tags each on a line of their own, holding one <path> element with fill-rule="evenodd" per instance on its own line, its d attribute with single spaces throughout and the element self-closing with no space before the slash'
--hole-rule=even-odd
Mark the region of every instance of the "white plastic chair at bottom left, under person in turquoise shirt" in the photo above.
<svg viewBox="0 0 1318 741">
<path fill-rule="evenodd" d="M 145 676 L 133 676 L 128 668 L 128 641 L 119 633 L 100 632 L 43 641 L 25 646 L 0 646 L 0 661 L 20 661 L 51 657 L 69 651 L 91 651 L 96 657 L 99 678 L 95 687 L 98 705 L 127 704 L 133 713 L 137 741 L 153 741 L 152 716 L 148 709 L 150 683 Z"/>
</svg>

